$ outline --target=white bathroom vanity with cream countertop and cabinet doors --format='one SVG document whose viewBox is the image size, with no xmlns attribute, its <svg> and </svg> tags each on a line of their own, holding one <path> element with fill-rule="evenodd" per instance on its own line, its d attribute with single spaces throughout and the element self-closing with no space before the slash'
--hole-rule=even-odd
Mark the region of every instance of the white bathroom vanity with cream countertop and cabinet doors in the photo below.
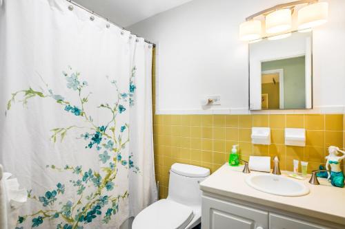
<svg viewBox="0 0 345 229">
<path fill-rule="evenodd" d="M 289 178 L 283 171 L 279 176 L 301 182 L 310 193 L 298 197 L 271 195 L 246 184 L 248 177 L 268 173 L 246 174 L 242 169 L 224 164 L 201 182 L 203 229 L 345 228 L 345 188 L 329 186 L 324 179 L 315 186 L 308 178 Z"/>
</svg>

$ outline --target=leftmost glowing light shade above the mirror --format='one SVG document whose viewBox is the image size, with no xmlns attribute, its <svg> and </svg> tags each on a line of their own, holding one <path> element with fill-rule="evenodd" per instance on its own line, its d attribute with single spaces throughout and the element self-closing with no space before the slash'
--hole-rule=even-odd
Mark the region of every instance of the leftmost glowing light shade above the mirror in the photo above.
<svg viewBox="0 0 345 229">
<path fill-rule="evenodd" d="M 242 41 L 253 41 L 261 38 L 261 21 L 250 20 L 239 25 L 239 38 Z"/>
</svg>

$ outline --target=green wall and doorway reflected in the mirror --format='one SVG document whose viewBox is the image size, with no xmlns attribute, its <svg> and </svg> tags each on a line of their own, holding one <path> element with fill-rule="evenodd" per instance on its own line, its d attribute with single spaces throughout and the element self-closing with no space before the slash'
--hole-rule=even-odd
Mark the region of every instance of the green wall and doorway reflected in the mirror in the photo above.
<svg viewBox="0 0 345 229">
<path fill-rule="evenodd" d="M 262 109 L 305 109 L 305 56 L 264 61 Z"/>
</svg>

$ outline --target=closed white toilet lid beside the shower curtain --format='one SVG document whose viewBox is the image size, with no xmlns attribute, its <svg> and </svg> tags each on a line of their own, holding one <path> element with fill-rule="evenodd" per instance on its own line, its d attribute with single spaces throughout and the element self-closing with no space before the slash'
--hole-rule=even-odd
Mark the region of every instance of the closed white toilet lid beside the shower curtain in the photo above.
<svg viewBox="0 0 345 229">
<path fill-rule="evenodd" d="M 193 219 L 193 209 L 168 199 L 161 199 L 135 217 L 132 229 L 182 229 Z"/>
</svg>

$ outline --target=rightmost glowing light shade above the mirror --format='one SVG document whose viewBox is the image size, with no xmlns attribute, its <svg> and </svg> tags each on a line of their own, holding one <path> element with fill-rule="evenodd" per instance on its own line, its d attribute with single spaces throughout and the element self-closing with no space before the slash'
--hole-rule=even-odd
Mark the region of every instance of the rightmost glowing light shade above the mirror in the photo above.
<svg viewBox="0 0 345 229">
<path fill-rule="evenodd" d="M 298 11 L 298 29 L 304 30 L 326 23 L 328 19 L 328 3 L 314 3 Z"/>
</svg>

